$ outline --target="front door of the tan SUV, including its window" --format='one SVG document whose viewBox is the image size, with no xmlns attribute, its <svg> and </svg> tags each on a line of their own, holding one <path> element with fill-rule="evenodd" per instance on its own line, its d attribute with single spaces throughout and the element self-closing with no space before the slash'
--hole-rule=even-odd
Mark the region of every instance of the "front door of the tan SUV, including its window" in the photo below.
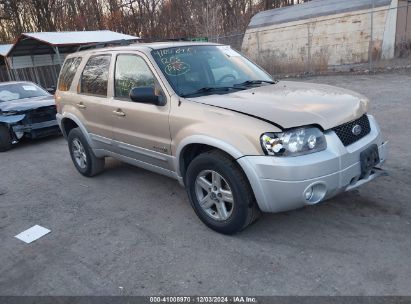
<svg viewBox="0 0 411 304">
<path fill-rule="evenodd" d="M 146 61 L 136 54 L 118 54 L 114 69 L 112 106 L 113 138 L 123 156 L 172 170 L 169 128 L 170 103 L 164 106 L 133 102 L 132 88 L 154 87 L 159 83 Z"/>
</svg>

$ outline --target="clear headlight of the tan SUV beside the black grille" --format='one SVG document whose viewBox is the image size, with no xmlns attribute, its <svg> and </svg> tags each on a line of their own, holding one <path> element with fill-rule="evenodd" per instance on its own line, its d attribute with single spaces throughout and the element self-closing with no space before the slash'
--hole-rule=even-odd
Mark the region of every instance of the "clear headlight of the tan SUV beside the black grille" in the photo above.
<svg viewBox="0 0 411 304">
<path fill-rule="evenodd" d="M 261 136 L 264 153 L 273 156 L 298 156 L 325 150 L 324 134 L 314 127 L 291 129 Z"/>
</svg>

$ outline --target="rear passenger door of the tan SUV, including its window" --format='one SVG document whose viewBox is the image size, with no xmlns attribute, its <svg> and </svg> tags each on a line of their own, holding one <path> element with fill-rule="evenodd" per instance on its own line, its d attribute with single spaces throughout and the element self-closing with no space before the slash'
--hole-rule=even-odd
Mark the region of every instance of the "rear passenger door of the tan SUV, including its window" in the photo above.
<svg viewBox="0 0 411 304">
<path fill-rule="evenodd" d="M 92 55 L 88 58 L 80 75 L 78 101 L 75 104 L 96 148 L 102 149 L 111 149 L 113 138 L 112 112 L 107 97 L 111 65 L 111 54 Z"/>
</svg>

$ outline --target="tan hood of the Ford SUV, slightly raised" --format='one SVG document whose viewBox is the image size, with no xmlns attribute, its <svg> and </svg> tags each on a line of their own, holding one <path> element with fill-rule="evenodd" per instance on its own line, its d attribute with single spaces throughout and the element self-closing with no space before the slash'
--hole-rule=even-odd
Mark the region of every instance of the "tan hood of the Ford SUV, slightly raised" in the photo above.
<svg viewBox="0 0 411 304">
<path fill-rule="evenodd" d="M 283 129 L 316 124 L 328 130 L 368 109 L 368 99 L 350 90 L 291 81 L 189 100 L 256 116 Z"/>
</svg>

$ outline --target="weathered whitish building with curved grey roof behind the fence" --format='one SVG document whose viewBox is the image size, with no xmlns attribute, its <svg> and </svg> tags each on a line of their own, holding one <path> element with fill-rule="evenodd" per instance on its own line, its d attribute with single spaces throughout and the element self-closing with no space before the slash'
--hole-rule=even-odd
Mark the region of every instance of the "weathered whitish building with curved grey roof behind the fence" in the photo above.
<svg viewBox="0 0 411 304">
<path fill-rule="evenodd" d="M 324 70 L 370 56 L 390 59 L 400 39 L 411 43 L 410 3 L 312 0 L 260 12 L 247 28 L 242 51 L 273 73 Z"/>
</svg>

